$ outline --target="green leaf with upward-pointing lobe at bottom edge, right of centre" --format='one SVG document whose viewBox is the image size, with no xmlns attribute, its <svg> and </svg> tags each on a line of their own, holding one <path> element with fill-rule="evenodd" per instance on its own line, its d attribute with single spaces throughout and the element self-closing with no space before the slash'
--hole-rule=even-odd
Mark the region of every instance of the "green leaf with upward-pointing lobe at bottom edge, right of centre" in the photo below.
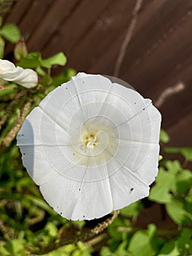
<svg viewBox="0 0 192 256">
<path fill-rule="evenodd" d="M 155 236 L 156 227 L 151 224 L 148 226 L 148 230 L 137 231 L 132 236 L 130 243 L 128 244 L 128 252 L 131 252 L 133 256 L 153 256 L 156 255 L 155 246 L 152 243 Z"/>
</svg>

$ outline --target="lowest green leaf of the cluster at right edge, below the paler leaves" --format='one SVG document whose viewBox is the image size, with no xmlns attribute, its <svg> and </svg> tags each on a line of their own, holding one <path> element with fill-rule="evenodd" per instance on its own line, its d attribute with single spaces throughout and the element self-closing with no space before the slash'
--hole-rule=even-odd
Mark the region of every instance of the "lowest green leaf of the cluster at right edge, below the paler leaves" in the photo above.
<svg viewBox="0 0 192 256">
<path fill-rule="evenodd" d="M 169 217 L 171 217 L 178 225 L 191 225 L 191 204 L 172 197 L 172 200 L 166 204 L 166 211 L 169 214 Z"/>
</svg>

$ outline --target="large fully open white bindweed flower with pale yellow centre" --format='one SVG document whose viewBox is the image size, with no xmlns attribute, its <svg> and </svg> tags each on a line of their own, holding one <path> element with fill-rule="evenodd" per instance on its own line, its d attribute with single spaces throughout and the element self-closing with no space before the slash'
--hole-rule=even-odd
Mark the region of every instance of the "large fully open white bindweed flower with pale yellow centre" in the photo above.
<svg viewBox="0 0 192 256">
<path fill-rule="evenodd" d="M 17 139 L 47 203 L 66 219 L 94 219 L 149 195 L 160 123 L 131 86 L 79 73 L 32 110 Z"/>
</svg>

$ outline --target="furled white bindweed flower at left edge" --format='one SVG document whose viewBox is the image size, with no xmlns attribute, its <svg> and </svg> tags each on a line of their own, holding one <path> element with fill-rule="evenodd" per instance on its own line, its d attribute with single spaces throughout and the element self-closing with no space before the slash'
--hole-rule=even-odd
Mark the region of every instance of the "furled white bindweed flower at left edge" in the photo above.
<svg viewBox="0 0 192 256">
<path fill-rule="evenodd" d="M 18 83 L 20 86 L 32 88 L 37 86 L 38 76 L 33 69 L 23 69 L 7 60 L 0 59 L 0 78 Z"/>
</svg>

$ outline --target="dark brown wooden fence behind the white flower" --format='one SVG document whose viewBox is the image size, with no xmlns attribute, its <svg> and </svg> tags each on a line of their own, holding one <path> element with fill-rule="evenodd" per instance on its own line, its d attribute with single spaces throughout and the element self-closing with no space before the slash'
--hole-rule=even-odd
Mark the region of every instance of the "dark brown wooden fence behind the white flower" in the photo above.
<svg viewBox="0 0 192 256">
<path fill-rule="evenodd" d="M 134 15 L 134 0 L 3 1 L 4 23 L 15 23 L 29 51 L 58 51 L 77 72 L 115 75 L 120 49 Z M 144 0 L 118 77 L 163 116 L 172 146 L 192 145 L 192 0 Z M 9 12 L 4 10 L 9 9 Z M 5 56 L 12 53 L 6 45 Z M 53 69 L 53 75 L 60 72 Z"/>
</svg>

